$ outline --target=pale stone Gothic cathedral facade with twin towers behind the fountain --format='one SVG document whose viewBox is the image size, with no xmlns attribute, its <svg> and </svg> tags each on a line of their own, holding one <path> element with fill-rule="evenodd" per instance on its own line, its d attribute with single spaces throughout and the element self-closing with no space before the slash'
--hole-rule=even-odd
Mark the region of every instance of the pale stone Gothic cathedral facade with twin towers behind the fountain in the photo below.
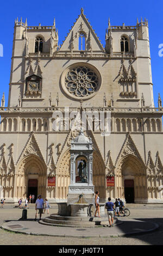
<svg viewBox="0 0 163 256">
<path fill-rule="evenodd" d="M 83 9 L 61 46 L 55 20 L 33 27 L 16 20 L 8 107 L 3 95 L 0 112 L 6 202 L 29 194 L 66 202 L 81 123 L 101 201 L 163 202 L 163 108 L 160 95 L 154 106 L 147 20 L 109 20 L 105 47 Z M 74 161 L 76 182 L 87 182 L 83 153 Z"/>
</svg>

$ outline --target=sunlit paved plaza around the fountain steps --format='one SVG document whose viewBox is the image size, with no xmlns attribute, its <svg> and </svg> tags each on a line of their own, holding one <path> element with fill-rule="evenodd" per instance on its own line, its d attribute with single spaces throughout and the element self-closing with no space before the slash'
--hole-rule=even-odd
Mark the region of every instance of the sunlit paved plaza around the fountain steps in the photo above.
<svg viewBox="0 0 163 256">
<path fill-rule="evenodd" d="M 163 206 L 128 204 L 126 207 L 130 216 L 118 218 L 122 223 L 112 228 L 68 228 L 35 222 L 34 204 L 28 209 L 27 221 L 21 220 L 22 209 L 5 204 L 0 209 L 3 227 L 0 245 L 162 245 Z M 57 211 L 57 206 L 53 206 L 50 214 Z"/>
</svg>

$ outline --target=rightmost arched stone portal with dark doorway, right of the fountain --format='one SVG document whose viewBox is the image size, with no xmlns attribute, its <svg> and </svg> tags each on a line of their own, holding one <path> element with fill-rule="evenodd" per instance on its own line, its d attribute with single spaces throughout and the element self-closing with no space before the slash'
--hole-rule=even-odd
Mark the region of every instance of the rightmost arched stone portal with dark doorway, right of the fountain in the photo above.
<svg viewBox="0 0 163 256">
<path fill-rule="evenodd" d="M 117 164 L 115 175 L 115 196 L 127 203 L 141 203 L 147 200 L 146 166 L 134 155 L 127 155 Z"/>
</svg>

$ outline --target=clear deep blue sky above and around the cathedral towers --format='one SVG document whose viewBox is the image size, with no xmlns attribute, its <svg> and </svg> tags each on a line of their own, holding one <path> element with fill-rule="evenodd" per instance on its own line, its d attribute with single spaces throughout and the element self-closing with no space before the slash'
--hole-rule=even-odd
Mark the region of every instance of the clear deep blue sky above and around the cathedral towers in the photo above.
<svg viewBox="0 0 163 256">
<path fill-rule="evenodd" d="M 159 57 L 159 45 L 163 44 L 163 3 L 162 1 L 1 1 L 0 16 L 0 44 L 3 45 L 3 57 L 0 57 L 0 99 L 5 93 L 5 106 L 8 103 L 8 90 L 10 80 L 10 66 L 12 54 L 12 40 L 14 21 L 18 17 L 26 21 L 28 26 L 50 26 L 55 17 L 59 32 L 59 44 L 65 39 L 69 29 L 80 14 L 83 7 L 84 14 L 102 44 L 105 45 L 105 29 L 110 17 L 111 25 L 136 25 L 142 17 L 148 19 L 149 40 L 152 58 L 152 78 L 155 107 L 158 107 L 158 93 L 163 102 L 163 57 Z"/>
</svg>

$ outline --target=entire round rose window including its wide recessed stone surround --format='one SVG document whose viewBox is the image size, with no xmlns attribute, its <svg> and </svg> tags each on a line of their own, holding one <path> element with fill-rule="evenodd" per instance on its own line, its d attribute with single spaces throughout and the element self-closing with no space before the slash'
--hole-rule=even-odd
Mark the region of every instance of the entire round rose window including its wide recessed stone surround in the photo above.
<svg viewBox="0 0 163 256">
<path fill-rule="evenodd" d="M 75 63 L 61 75 L 64 92 L 73 99 L 90 99 L 101 87 L 102 77 L 99 71 L 87 63 Z"/>
</svg>

